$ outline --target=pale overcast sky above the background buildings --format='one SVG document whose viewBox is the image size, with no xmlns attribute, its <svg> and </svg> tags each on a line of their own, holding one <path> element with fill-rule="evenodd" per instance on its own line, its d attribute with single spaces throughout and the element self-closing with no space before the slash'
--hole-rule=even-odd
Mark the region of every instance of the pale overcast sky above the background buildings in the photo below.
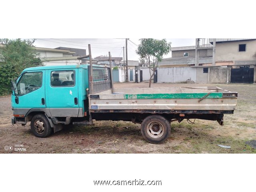
<svg viewBox="0 0 256 192">
<path fill-rule="evenodd" d="M 168 39 L 168 42 L 172 43 L 172 47 L 179 46 L 193 46 L 195 45 L 195 39 Z M 136 54 L 136 49 L 139 44 L 139 39 L 130 38 L 128 40 L 128 60 L 139 60 L 139 56 Z M 125 47 L 125 39 L 36 39 L 34 46 L 43 48 L 57 48 L 57 47 L 70 47 L 86 49 L 88 54 L 88 44 L 91 44 L 92 57 L 95 58 L 101 55 L 108 55 L 111 52 L 112 57 L 124 57 L 123 47 Z M 170 58 L 171 52 L 165 55 L 164 58 Z"/>
</svg>

